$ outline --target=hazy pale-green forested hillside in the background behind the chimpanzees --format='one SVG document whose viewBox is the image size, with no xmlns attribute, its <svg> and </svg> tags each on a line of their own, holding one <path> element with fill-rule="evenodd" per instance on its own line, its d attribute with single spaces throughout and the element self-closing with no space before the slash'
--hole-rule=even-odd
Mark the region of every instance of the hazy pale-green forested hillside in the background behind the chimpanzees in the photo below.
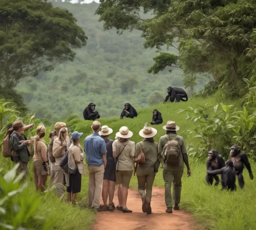
<svg viewBox="0 0 256 230">
<path fill-rule="evenodd" d="M 126 102 L 135 108 L 145 108 L 163 101 L 167 86 L 183 87 L 182 69 L 172 68 L 170 73 L 171 68 L 166 68 L 157 75 L 147 73 L 154 63 L 156 49 L 144 49 L 145 40 L 139 31 L 124 35 L 117 35 L 114 29 L 104 31 L 99 16 L 94 15 L 98 3 L 52 4 L 73 13 L 88 40 L 85 47 L 75 50 L 73 62 L 66 61 L 52 72 L 20 80 L 16 89 L 38 118 L 53 122 L 71 113 L 82 118 L 90 102 L 96 103 L 102 117 L 120 115 Z M 177 54 L 174 48 L 169 52 Z M 195 90 L 203 84 L 204 81 L 198 82 Z"/>
</svg>

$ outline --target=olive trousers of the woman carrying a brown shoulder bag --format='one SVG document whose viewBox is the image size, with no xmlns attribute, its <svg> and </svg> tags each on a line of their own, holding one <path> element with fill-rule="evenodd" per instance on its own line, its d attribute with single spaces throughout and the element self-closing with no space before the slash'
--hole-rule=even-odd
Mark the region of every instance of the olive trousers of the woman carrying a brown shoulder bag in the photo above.
<svg viewBox="0 0 256 230">
<path fill-rule="evenodd" d="M 147 202 L 151 201 L 152 197 L 152 186 L 154 183 L 154 178 L 156 176 L 156 173 L 150 173 L 148 175 L 138 176 L 138 191 L 140 196 L 146 196 Z M 146 190 L 146 192 L 145 192 Z"/>
</svg>

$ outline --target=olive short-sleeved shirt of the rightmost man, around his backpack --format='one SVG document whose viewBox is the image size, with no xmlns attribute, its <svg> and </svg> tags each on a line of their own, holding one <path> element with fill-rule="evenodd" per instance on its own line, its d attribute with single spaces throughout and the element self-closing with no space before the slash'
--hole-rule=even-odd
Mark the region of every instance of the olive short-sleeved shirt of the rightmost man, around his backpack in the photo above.
<svg viewBox="0 0 256 230">
<path fill-rule="evenodd" d="M 168 137 L 169 136 L 169 137 Z M 165 151 L 165 144 L 169 141 L 174 139 L 177 136 L 177 141 L 180 144 L 180 163 L 179 166 L 172 166 L 172 165 L 167 165 L 163 162 L 163 157 L 164 157 L 164 151 Z M 162 137 L 160 137 L 159 140 L 159 145 L 158 145 L 158 155 L 161 158 L 162 164 L 163 164 L 163 170 L 168 170 L 168 171 L 178 171 L 178 170 L 183 170 L 184 169 L 184 162 L 183 162 L 183 156 L 182 154 L 186 153 L 186 145 L 184 138 L 177 135 L 177 134 L 166 134 Z"/>
</svg>

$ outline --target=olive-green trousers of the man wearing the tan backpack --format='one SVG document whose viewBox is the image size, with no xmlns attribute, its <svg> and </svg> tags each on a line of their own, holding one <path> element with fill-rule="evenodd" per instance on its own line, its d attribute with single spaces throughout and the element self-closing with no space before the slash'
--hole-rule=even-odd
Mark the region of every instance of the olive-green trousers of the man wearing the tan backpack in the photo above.
<svg viewBox="0 0 256 230">
<path fill-rule="evenodd" d="M 166 207 L 172 208 L 172 204 L 180 204 L 181 195 L 181 178 L 183 175 L 183 170 L 169 171 L 163 170 L 163 180 L 164 180 L 164 196 L 166 201 Z M 173 184 L 173 190 L 172 189 Z"/>
</svg>

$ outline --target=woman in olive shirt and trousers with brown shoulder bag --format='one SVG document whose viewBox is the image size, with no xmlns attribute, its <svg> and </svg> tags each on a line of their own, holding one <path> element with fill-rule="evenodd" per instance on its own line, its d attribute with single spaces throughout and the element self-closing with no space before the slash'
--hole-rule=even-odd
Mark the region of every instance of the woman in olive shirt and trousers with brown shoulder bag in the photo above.
<svg viewBox="0 0 256 230">
<path fill-rule="evenodd" d="M 153 137 L 157 134 L 157 129 L 145 124 L 144 128 L 140 130 L 139 135 L 143 137 L 143 141 L 136 144 L 136 155 L 141 150 L 145 154 L 145 163 L 139 164 L 137 167 L 137 180 L 138 180 L 138 191 L 142 198 L 142 211 L 143 213 L 151 213 L 151 196 L 152 186 L 158 167 L 155 169 L 155 164 L 159 163 L 157 158 L 157 142 L 154 141 Z M 159 164 L 156 164 L 159 166 Z M 145 192 L 146 191 L 146 192 Z"/>
</svg>

